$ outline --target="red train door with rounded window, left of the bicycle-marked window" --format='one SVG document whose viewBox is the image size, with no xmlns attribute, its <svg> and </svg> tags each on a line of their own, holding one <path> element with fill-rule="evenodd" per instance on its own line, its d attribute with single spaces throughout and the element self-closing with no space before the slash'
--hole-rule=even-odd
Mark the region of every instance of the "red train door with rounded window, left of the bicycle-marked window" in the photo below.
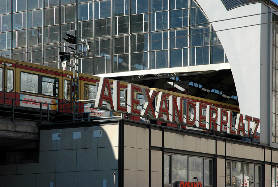
<svg viewBox="0 0 278 187">
<path fill-rule="evenodd" d="M 5 93 L 4 103 L 8 105 L 13 104 L 13 98 L 15 98 L 15 64 L 6 64 L 5 67 Z M 15 105 L 15 101 L 14 101 Z"/>
</svg>

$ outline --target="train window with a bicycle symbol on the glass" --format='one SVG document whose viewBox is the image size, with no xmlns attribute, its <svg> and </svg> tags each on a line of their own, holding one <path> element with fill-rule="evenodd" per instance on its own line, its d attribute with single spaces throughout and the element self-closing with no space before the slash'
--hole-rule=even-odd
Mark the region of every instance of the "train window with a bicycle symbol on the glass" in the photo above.
<svg viewBox="0 0 278 187">
<path fill-rule="evenodd" d="M 20 72 L 20 91 L 38 93 L 38 76 Z"/>
</svg>

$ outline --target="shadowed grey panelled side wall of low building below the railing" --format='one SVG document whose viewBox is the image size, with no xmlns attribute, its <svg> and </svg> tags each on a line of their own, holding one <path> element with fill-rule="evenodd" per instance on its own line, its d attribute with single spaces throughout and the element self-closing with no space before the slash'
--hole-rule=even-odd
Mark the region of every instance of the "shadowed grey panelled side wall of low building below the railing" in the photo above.
<svg viewBox="0 0 278 187">
<path fill-rule="evenodd" d="M 103 125 L 40 131 L 39 163 L 0 165 L 1 187 L 113 186 L 111 172 L 118 174 L 118 128 Z M 97 130 L 102 130 L 102 137 L 93 137 Z M 81 132 L 81 138 L 75 139 L 74 132 Z M 60 140 L 53 141 L 55 133 L 60 133 Z M 116 175 L 116 186 L 117 181 Z"/>
</svg>

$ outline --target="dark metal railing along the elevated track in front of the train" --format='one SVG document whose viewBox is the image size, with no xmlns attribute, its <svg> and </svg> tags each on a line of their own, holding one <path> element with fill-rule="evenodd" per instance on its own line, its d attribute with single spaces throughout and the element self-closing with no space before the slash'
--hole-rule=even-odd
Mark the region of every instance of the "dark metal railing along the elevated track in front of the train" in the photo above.
<svg viewBox="0 0 278 187">
<path fill-rule="evenodd" d="M 23 104 L 24 103 L 24 104 Z M 76 104 L 76 105 L 75 105 Z M 27 107 L 30 105 L 30 107 Z M 53 107 L 52 107 L 53 106 Z M 74 107 L 77 106 L 77 107 Z M 38 123 L 71 123 L 89 121 L 96 118 L 122 118 L 123 116 L 109 115 L 91 116 L 90 113 L 103 113 L 109 111 L 86 111 L 83 102 L 69 101 L 60 103 L 38 102 L 26 99 L 0 97 L 0 117 L 9 118 L 12 122 L 17 120 L 36 121 Z M 52 109 L 54 108 L 54 109 Z"/>
</svg>

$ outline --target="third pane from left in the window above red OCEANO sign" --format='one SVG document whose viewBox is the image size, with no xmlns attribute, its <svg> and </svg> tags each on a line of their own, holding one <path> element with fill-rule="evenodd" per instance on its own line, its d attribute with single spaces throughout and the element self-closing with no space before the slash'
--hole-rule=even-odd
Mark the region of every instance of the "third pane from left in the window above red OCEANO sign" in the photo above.
<svg viewBox="0 0 278 187">
<path fill-rule="evenodd" d="M 198 157 L 188 157 L 188 181 L 189 182 L 201 182 L 204 185 L 204 159 Z M 194 179 L 198 177 L 198 179 Z"/>
</svg>

